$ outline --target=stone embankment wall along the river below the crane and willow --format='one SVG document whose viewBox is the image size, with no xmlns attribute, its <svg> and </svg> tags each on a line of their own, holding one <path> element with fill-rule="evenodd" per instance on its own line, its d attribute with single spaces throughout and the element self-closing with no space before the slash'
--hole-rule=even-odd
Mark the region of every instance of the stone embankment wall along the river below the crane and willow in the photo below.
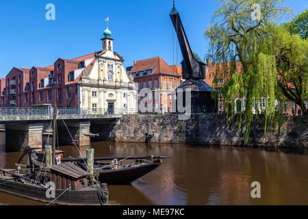
<svg viewBox="0 0 308 219">
<path fill-rule="evenodd" d="M 247 146 L 307 149 L 307 124 L 305 116 L 285 116 L 280 135 L 277 121 L 264 136 L 264 116 L 258 116 L 251 123 Z M 244 120 L 239 131 L 237 118 L 227 123 L 224 115 L 192 115 L 188 120 L 179 120 L 177 115 L 126 115 L 112 129 L 110 140 L 245 146 L 245 131 Z"/>
</svg>

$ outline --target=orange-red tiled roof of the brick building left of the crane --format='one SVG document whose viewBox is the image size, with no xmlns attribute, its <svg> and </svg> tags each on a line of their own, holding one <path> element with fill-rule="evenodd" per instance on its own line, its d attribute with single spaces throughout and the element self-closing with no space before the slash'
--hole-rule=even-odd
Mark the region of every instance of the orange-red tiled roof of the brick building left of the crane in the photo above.
<svg viewBox="0 0 308 219">
<path fill-rule="evenodd" d="M 170 68 L 170 66 L 159 56 L 135 62 L 135 64 L 133 64 L 133 68 L 131 68 L 131 73 L 150 69 L 153 69 L 152 75 L 165 74 L 181 77 L 179 73 L 172 70 L 172 68 Z"/>
</svg>

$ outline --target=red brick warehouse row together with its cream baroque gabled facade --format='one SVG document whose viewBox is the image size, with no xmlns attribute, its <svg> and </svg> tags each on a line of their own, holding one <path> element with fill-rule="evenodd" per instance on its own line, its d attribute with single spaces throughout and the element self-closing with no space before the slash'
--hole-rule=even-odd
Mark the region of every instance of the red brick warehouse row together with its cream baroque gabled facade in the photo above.
<svg viewBox="0 0 308 219">
<path fill-rule="evenodd" d="M 133 79 L 123 57 L 113 51 L 108 27 L 103 34 L 101 51 L 72 60 L 58 58 L 47 67 L 12 68 L 1 79 L 0 107 L 50 107 L 55 100 L 60 108 L 136 112 Z"/>
</svg>

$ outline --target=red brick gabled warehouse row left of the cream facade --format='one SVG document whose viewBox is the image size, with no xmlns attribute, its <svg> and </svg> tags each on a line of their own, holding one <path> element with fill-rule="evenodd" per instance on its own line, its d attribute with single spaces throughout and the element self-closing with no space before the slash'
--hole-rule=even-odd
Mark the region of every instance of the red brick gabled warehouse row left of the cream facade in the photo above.
<svg viewBox="0 0 308 219">
<path fill-rule="evenodd" d="M 77 108 L 77 83 L 82 70 L 94 60 L 94 55 L 91 53 L 73 60 L 59 58 L 45 68 L 12 68 L 5 79 L 1 79 L 0 107 L 52 105 L 55 90 L 57 107 Z"/>
</svg>

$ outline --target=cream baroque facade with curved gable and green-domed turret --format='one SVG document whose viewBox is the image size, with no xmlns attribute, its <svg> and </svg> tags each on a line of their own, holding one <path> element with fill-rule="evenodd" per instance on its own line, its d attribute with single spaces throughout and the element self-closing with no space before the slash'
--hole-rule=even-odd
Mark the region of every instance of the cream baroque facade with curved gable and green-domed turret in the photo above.
<svg viewBox="0 0 308 219">
<path fill-rule="evenodd" d="M 111 32 L 104 31 L 102 51 L 82 71 L 78 83 L 79 109 L 103 114 L 138 112 L 138 97 L 133 77 L 127 75 L 123 57 L 114 51 Z"/>
</svg>

